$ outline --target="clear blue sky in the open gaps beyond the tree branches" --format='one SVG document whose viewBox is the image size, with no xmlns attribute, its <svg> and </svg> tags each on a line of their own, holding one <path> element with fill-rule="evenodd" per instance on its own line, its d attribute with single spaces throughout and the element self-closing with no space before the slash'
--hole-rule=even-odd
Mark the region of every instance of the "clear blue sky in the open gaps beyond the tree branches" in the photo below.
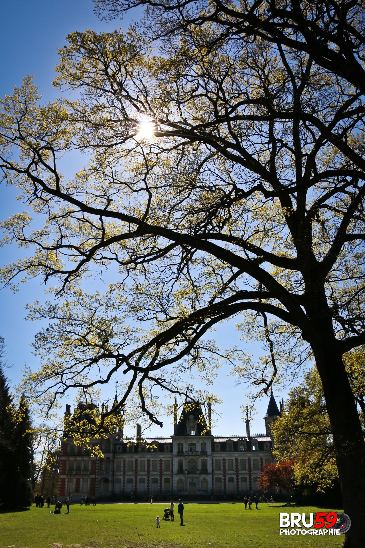
<svg viewBox="0 0 365 548">
<path fill-rule="evenodd" d="M 96 31 L 111 31 L 115 26 L 122 26 L 126 30 L 131 20 L 114 21 L 108 24 L 100 21 L 93 12 L 92 0 L 2 0 L 1 2 L 1 78 L 0 96 L 11 93 L 14 85 L 21 85 L 25 75 L 34 75 L 34 83 L 38 85 L 43 99 L 53 100 L 57 93 L 52 87 L 54 68 L 57 62 L 57 48 L 65 44 L 65 37 L 71 31 L 83 31 L 91 28 Z M 134 13 L 133 18 L 138 18 Z M 76 169 L 77 158 L 67 158 L 67 170 L 71 173 Z M 16 200 L 16 191 L 3 184 L 0 187 L 0 218 L 25 209 L 24 204 Z M 19 256 L 16 247 L 0 249 L 0 261 L 9 262 Z M 8 362 L 13 367 L 7 374 L 11 384 L 17 384 L 21 379 L 21 370 L 24 364 L 37 367 L 37 358 L 32 355 L 31 343 L 34 334 L 40 329 L 39 324 L 24 320 L 27 302 L 35 299 L 42 300 L 44 286 L 39 280 L 19 287 L 17 293 L 9 289 L 0 292 L 0 334 L 5 338 L 8 350 Z M 239 343 L 239 334 L 234 329 L 234 323 L 226 323 L 219 328 L 216 340 L 223 346 L 229 347 Z M 224 341 L 224 344 L 223 344 Z M 243 344 L 243 343 L 242 343 Z M 248 351 L 253 351 L 248 348 Z M 256 351 L 258 349 L 255 349 Z M 213 390 L 223 400 L 223 404 L 216 411 L 220 416 L 213 427 L 216 435 L 238 435 L 245 432 L 240 406 L 246 404 L 245 391 L 242 386 L 235 385 L 235 379 L 228 375 L 227 368 L 223 368 Z M 115 384 L 109 388 L 111 395 Z M 279 396 L 274 392 L 274 395 Z M 285 398 L 285 393 L 280 395 Z M 279 405 L 279 398 L 277 398 Z M 71 402 L 72 403 L 72 402 Z M 266 412 L 268 398 L 257 404 L 258 415 L 252 421 L 251 432 L 264 432 L 262 419 Z M 155 436 L 170 435 L 171 418 L 164 420 L 163 430 L 154 427 Z M 127 432 L 128 434 L 128 432 Z"/>
</svg>

